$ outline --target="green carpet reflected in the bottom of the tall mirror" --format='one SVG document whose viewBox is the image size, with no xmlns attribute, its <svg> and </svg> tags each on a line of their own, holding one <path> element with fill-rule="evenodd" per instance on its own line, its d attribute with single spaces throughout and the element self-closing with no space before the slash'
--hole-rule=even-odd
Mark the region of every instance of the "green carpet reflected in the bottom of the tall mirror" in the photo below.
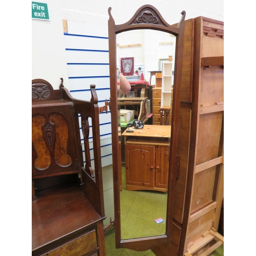
<svg viewBox="0 0 256 256">
<path fill-rule="evenodd" d="M 122 168 L 120 209 L 121 239 L 165 234 L 167 193 L 151 190 L 127 191 L 125 167 Z M 164 222 L 157 224 L 155 220 L 159 218 Z"/>
</svg>

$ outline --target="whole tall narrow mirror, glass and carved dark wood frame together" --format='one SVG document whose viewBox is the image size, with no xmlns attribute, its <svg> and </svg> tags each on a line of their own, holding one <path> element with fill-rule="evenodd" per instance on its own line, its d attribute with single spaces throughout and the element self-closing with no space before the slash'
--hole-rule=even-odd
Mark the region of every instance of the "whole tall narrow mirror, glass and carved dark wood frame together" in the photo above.
<svg viewBox="0 0 256 256">
<path fill-rule="evenodd" d="M 154 6 L 144 5 L 128 22 L 115 25 L 111 9 L 108 26 L 116 248 L 144 251 L 171 240 L 174 184 L 179 164 L 177 139 L 185 11 L 181 12 L 178 25 L 171 26 Z M 125 38 L 140 38 L 142 43 L 129 47 L 132 45 L 130 41 L 125 44 Z M 121 45 L 126 45 L 129 52 L 121 52 Z M 144 60 L 136 57 L 136 49 L 144 52 Z M 163 51 L 165 54 L 160 56 L 159 52 Z M 127 69 L 133 67 L 130 60 L 121 63 L 120 59 L 131 56 L 134 65 L 139 63 L 147 76 L 161 75 L 159 125 L 152 121 L 152 89 L 157 83 L 152 86 L 152 76 L 150 82 L 140 76 L 138 81 L 130 82 L 129 95 L 119 95 L 117 70 L 125 68 L 123 63 Z M 132 74 L 126 78 L 133 81 L 138 76 Z M 167 122 L 163 121 L 164 117 Z M 144 126 L 135 129 L 130 119 L 141 121 Z"/>
</svg>

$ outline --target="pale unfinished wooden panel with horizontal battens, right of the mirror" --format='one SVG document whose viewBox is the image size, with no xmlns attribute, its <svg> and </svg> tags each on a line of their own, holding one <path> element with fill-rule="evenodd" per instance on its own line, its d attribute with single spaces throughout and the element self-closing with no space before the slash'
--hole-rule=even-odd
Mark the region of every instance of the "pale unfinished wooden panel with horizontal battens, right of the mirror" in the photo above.
<svg viewBox="0 0 256 256">
<path fill-rule="evenodd" d="M 214 236 L 212 226 L 218 228 L 223 181 L 223 29 L 217 20 L 204 17 L 194 19 L 195 25 L 187 31 L 183 57 L 191 57 L 183 69 L 186 84 L 193 81 L 191 143 L 189 151 L 188 200 L 182 229 L 180 255 L 199 255 L 210 246 Z M 186 26 L 188 22 L 186 23 Z M 190 39 L 192 43 L 190 44 Z M 189 45 L 191 49 L 189 50 Z M 188 47 L 188 48 L 186 48 Z M 189 53 L 191 55 L 189 55 Z M 193 56 L 194 55 L 194 56 Z M 202 64 L 205 64 L 202 66 Z M 189 80 L 189 70 L 193 77 Z M 185 73 L 186 72 L 186 73 Z M 190 73 L 191 75 L 191 73 Z M 188 91 L 187 91 L 188 92 Z M 189 106 L 187 105 L 187 108 Z M 191 160 L 191 161 L 190 161 Z M 190 173 L 191 171 L 191 173 Z M 193 173 L 192 173 L 193 171 Z M 191 190 L 190 190 L 191 189 Z M 186 206 L 189 205 L 189 208 Z M 183 244 L 182 244 L 183 245 Z M 204 247 L 204 248 L 203 248 Z M 210 252 L 209 252 L 210 253 Z M 209 254 L 208 253 L 208 254 Z M 206 252 L 204 255 L 208 255 Z M 200 254 L 201 255 L 201 254 Z"/>
</svg>

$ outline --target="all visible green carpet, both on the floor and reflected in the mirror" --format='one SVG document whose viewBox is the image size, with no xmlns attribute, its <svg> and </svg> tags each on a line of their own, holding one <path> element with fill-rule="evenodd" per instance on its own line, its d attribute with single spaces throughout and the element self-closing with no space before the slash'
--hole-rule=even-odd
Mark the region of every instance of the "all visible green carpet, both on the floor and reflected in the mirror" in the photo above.
<svg viewBox="0 0 256 256">
<path fill-rule="evenodd" d="M 167 193 L 139 190 L 127 191 L 125 168 L 122 167 L 122 191 L 120 192 L 121 239 L 157 236 L 165 233 L 165 222 L 157 224 L 156 219 L 166 219 Z M 149 210 L 152 209 L 152 210 Z M 154 256 L 151 250 L 134 251 L 116 249 L 115 230 L 105 237 L 106 256 Z M 220 246 L 212 256 L 223 256 L 224 247 Z M 171 255 L 170 255 L 171 256 Z"/>
</svg>

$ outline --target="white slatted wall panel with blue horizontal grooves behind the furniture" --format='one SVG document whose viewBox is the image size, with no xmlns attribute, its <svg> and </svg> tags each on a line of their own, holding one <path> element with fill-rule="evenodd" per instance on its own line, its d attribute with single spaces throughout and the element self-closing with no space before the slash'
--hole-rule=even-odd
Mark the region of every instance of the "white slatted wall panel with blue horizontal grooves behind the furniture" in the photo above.
<svg viewBox="0 0 256 256">
<path fill-rule="evenodd" d="M 76 99 L 91 100 L 90 85 L 96 85 L 98 105 L 110 98 L 108 26 L 72 22 L 64 33 L 69 76 L 69 90 Z M 80 121 L 80 120 L 79 120 Z M 111 114 L 101 113 L 100 144 L 102 167 L 112 164 Z M 94 169 L 92 127 L 90 124 L 90 155 Z M 81 124 L 80 124 L 81 138 Z M 83 152 L 83 140 L 81 140 Z M 83 153 L 84 157 L 84 153 Z M 85 160 L 85 158 L 84 158 Z"/>
</svg>

